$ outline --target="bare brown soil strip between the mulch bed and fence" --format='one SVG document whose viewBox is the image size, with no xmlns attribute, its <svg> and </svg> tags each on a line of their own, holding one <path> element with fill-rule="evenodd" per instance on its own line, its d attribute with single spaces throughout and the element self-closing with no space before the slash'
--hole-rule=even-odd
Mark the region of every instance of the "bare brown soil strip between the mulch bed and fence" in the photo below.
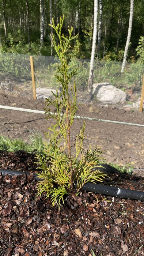
<svg viewBox="0 0 144 256">
<path fill-rule="evenodd" d="M 22 96 L 3 90 L 0 91 L 0 105 L 37 110 L 43 110 L 46 106 L 43 100 L 34 100 L 29 94 Z M 80 103 L 77 115 L 144 124 L 144 112 L 134 111 L 124 106 L 101 106 L 96 102 Z M 25 141 L 29 141 L 31 129 L 38 130 L 45 139 L 43 132 L 47 131 L 52 121 L 45 120 L 44 114 L 6 109 L 0 109 L 0 120 L 1 135 Z M 75 119 L 71 132 L 72 144 L 82 124 L 83 120 Z M 101 147 L 102 151 L 105 151 L 102 157 L 106 158 L 108 163 L 118 163 L 121 166 L 129 164 L 135 169 L 144 168 L 143 127 L 87 121 L 85 135 L 85 148 L 88 148 L 90 144 Z"/>
</svg>

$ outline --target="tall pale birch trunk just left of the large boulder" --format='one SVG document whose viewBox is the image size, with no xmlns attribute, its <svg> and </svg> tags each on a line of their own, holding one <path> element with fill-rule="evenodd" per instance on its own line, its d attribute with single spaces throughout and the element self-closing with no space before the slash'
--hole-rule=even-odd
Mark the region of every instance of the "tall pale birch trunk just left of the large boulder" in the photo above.
<svg viewBox="0 0 144 256">
<path fill-rule="evenodd" d="M 97 35 L 97 18 L 98 18 L 98 0 L 94 0 L 94 30 L 92 38 L 92 50 L 91 50 L 91 61 L 90 61 L 90 74 L 88 79 L 88 94 L 89 99 L 92 99 L 92 84 L 94 78 L 94 59 L 95 59 L 95 47 L 96 47 L 96 35 Z"/>
</svg>

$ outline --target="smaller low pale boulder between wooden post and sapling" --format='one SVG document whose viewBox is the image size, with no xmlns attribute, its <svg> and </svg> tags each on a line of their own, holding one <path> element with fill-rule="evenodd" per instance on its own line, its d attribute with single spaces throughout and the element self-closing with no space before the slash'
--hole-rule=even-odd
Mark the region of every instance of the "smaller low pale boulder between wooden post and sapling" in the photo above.
<svg viewBox="0 0 144 256">
<path fill-rule="evenodd" d="M 55 89 L 48 89 L 48 88 L 41 88 L 41 87 L 37 87 L 36 88 L 36 96 L 37 99 L 45 99 L 45 98 L 53 98 L 53 93 L 56 93 Z M 58 90 L 58 93 L 60 93 L 60 90 Z"/>
</svg>

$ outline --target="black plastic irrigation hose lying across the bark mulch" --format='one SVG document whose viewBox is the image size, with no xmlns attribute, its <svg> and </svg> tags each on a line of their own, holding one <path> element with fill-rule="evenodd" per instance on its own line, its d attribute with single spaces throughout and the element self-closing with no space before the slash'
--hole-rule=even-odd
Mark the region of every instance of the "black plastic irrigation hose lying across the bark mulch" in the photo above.
<svg viewBox="0 0 144 256">
<path fill-rule="evenodd" d="M 115 170 L 114 169 L 111 172 L 115 172 L 115 170 L 117 170 L 117 169 L 115 169 Z M 19 172 L 19 171 L 15 171 L 15 170 L 6 170 L 6 169 L 0 169 L 0 172 L 1 172 L 2 176 L 5 176 L 7 174 L 9 174 L 11 176 L 18 176 L 18 175 L 22 175 L 22 174 L 30 175 L 29 172 Z M 110 171 L 108 171 L 108 172 L 110 172 Z M 35 173 L 33 173 L 33 176 L 35 177 L 35 179 L 37 181 L 42 180 Z M 76 188 L 76 184 L 75 184 L 75 188 Z M 144 201 L 144 192 L 137 191 L 137 190 L 94 184 L 92 182 L 88 182 L 87 184 L 85 184 L 83 186 L 83 189 L 86 191 L 100 193 L 100 194 L 109 195 L 109 196 L 118 196 L 118 197 L 127 198 L 127 199 L 135 199 L 135 200 Z"/>
</svg>

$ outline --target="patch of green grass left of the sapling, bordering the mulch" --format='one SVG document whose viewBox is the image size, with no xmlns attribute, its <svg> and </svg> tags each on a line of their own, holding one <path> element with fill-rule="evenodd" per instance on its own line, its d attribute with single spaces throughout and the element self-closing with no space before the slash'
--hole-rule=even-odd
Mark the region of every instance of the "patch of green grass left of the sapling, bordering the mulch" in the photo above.
<svg viewBox="0 0 144 256">
<path fill-rule="evenodd" d="M 38 131 L 31 131 L 30 143 L 20 139 L 10 139 L 7 136 L 0 135 L 0 150 L 16 152 L 19 150 L 30 152 L 42 152 L 42 136 Z"/>
</svg>

